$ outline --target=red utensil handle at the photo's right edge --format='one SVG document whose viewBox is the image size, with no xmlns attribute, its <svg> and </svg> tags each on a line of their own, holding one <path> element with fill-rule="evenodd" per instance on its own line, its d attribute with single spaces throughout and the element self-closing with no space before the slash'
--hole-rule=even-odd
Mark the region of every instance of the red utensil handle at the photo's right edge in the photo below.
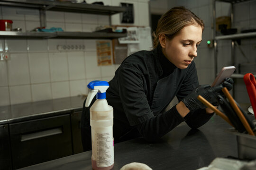
<svg viewBox="0 0 256 170">
<path fill-rule="evenodd" d="M 246 84 L 247 93 L 252 104 L 254 116 L 256 119 L 256 80 L 252 73 L 247 73 L 244 76 L 244 82 Z"/>
</svg>

